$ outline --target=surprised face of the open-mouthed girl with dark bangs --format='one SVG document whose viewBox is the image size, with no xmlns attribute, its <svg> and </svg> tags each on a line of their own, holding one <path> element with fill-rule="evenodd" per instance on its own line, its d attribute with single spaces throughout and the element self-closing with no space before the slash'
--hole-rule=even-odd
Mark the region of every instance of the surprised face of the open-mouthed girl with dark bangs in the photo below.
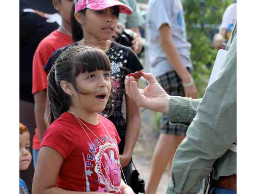
<svg viewBox="0 0 256 194">
<path fill-rule="evenodd" d="M 90 92 L 90 94 L 75 92 L 72 97 L 73 105 L 83 108 L 88 113 L 103 111 L 110 95 L 110 72 L 96 70 L 91 73 L 81 73 L 76 77 L 76 81 L 81 91 Z"/>
</svg>

